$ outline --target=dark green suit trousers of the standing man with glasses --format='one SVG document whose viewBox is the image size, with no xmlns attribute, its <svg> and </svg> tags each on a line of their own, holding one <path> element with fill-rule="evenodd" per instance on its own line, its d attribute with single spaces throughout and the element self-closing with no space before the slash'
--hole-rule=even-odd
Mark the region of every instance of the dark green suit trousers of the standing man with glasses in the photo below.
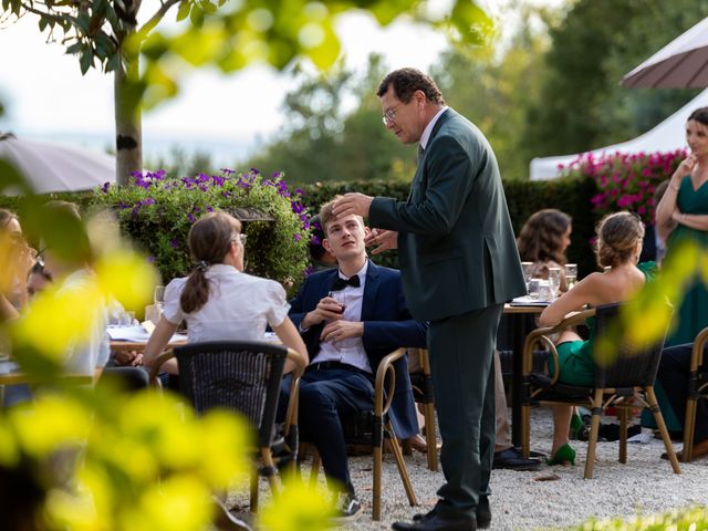
<svg viewBox="0 0 708 531">
<path fill-rule="evenodd" d="M 428 348 L 442 438 L 445 485 L 436 510 L 475 517 L 488 496 L 494 451 L 493 352 L 503 304 L 433 321 Z"/>
</svg>

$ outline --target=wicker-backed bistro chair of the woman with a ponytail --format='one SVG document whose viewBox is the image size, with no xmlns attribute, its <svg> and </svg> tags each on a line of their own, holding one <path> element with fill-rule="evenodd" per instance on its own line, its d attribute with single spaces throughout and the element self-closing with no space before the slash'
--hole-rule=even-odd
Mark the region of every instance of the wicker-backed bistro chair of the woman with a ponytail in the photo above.
<svg viewBox="0 0 708 531">
<path fill-rule="evenodd" d="M 256 431 L 257 461 L 251 473 L 251 511 L 258 509 L 258 478 L 268 478 L 278 496 L 277 462 L 292 462 L 298 455 L 296 396 L 304 365 L 298 353 L 273 343 L 250 341 L 202 342 L 177 346 L 160 354 L 150 371 L 150 382 L 158 385 L 159 367 L 170 357 L 179 366 L 179 388 L 197 414 L 223 408 L 240 414 Z M 275 413 L 285 360 L 296 364 L 291 384 L 291 399 L 283 437 L 275 437 Z M 294 399 L 292 398 L 294 397 Z M 278 460 L 273 454 L 279 455 Z M 260 458 L 260 459 L 259 459 Z"/>
</svg>

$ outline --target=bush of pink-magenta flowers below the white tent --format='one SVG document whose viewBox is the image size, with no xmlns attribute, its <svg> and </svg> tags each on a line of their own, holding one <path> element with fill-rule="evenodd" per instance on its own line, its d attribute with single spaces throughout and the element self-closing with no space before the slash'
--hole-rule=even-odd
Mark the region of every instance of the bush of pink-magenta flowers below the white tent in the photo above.
<svg viewBox="0 0 708 531">
<path fill-rule="evenodd" d="M 563 167 L 562 176 L 590 176 L 597 184 L 600 192 L 592 199 L 593 209 L 600 215 L 631 210 L 647 225 L 654 223 L 654 190 L 676 170 L 686 158 L 684 149 L 669 153 L 605 154 L 601 157 L 592 153 L 581 155 Z"/>
</svg>

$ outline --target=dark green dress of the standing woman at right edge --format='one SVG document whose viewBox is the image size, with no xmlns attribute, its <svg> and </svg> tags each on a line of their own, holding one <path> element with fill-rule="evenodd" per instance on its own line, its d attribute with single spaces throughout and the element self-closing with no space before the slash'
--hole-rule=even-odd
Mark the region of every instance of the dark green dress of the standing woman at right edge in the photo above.
<svg viewBox="0 0 708 531">
<path fill-rule="evenodd" d="M 684 214 L 708 215 L 708 185 L 704 183 L 697 190 L 694 190 L 690 177 L 684 177 L 678 189 L 676 204 Z M 708 231 L 679 225 L 666 242 L 666 256 L 669 257 L 671 249 L 685 239 L 693 240 L 704 250 L 708 250 Z M 708 326 L 708 291 L 698 273 L 680 302 L 680 306 L 677 308 L 675 304 L 673 325 L 675 329 L 666 339 L 666 346 L 693 343 L 696 334 Z"/>
</svg>

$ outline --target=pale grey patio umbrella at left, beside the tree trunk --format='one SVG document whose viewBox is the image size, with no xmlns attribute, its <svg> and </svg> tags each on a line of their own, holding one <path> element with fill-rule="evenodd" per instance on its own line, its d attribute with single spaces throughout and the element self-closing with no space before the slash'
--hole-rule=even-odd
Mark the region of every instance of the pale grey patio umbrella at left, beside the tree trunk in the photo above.
<svg viewBox="0 0 708 531">
<path fill-rule="evenodd" d="M 0 135 L 0 160 L 17 169 L 35 194 L 87 190 L 115 183 L 115 157 L 88 148 Z M 2 191 L 13 192 L 19 190 Z"/>
</svg>

